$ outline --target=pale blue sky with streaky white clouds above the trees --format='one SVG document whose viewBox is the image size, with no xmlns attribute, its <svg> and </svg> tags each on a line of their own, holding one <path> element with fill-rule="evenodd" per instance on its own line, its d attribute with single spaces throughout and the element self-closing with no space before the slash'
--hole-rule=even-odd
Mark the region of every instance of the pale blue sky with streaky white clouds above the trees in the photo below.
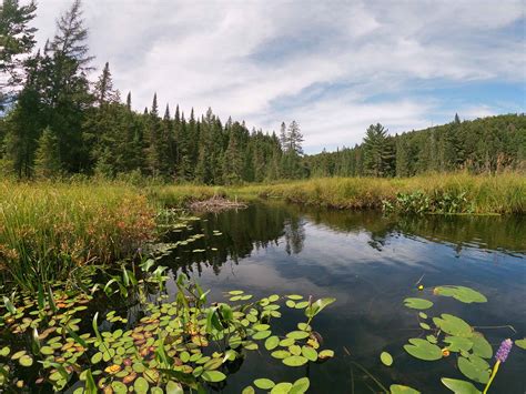
<svg viewBox="0 0 526 394">
<path fill-rule="evenodd" d="M 69 0 L 39 0 L 39 43 Z M 279 131 L 304 150 L 453 120 L 525 112 L 524 0 L 84 0 L 98 72 L 134 109 L 153 93 L 190 113 Z"/>
</svg>

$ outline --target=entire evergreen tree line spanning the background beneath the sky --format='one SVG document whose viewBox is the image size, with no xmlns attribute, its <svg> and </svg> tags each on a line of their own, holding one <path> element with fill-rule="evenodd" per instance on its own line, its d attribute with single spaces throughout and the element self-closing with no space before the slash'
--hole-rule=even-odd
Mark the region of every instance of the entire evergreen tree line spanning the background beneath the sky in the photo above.
<svg viewBox="0 0 526 394">
<path fill-rule="evenodd" d="M 120 174 L 206 184 L 308 176 L 411 176 L 468 169 L 524 168 L 524 115 L 503 115 L 390 137 L 367 129 L 361 145 L 304 155 L 297 122 L 279 135 L 225 123 L 212 110 L 201 117 L 160 112 L 156 94 L 142 113 L 114 89 L 107 63 L 92 83 L 80 0 L 57 22 L 57 33 L 33 52 L 34 2 L 2 0 L 0 9 L 0 172 L 19 179 L 82 173 Z"/>
</svg>

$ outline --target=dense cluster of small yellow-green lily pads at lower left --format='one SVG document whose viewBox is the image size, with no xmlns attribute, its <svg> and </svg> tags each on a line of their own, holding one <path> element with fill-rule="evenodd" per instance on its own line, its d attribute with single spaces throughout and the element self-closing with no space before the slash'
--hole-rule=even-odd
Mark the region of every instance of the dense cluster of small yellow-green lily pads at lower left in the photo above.
<svg viewBox="0 0 526 394">
<path fill-rule="evenodd" d="M 321 363 L 334 356 L 321 350 L 312 320 L 334 299 L 303 300 L 272 294 L 253 300 L 241 290 L 225 294 L 229 303 L 208 302 L 208 292 L 181 274 L 175 299 L 162 292 L 164 267 L 149 259 L 115 270 L 104 284 L 49 289 L 38 300 L 13 293 L 0 312 L 0 386 L 13 391 L 40 387 L 73 393 L 183 393 L 221 388 L 250 352 L 265 348 L 285 366 Z M 148 286 L 154 284 L 152 296 Z M 139 296 L 131 295 L 139 294 Z M 111 297 L 133 299 L 140 315 L 97 311 Z M 104 301 L 105 300 L 105 301 Z M 282 306 L 304 311 L 296 330 L 280 334 L 273 321 Z M 304 393 L 307 377 L 273 382 L 260 377 L 244 393 Z"/>
</svg>

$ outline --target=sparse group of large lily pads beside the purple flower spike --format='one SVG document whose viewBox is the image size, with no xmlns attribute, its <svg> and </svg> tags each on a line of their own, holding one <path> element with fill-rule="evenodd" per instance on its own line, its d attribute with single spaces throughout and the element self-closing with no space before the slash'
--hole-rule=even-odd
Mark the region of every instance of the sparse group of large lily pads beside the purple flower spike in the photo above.
<svg viewBox="0 0 526 394">
<path fill-rule="evenodd" d="M 444 285 L 433 290 L 433 295 L 453 297 L 459 302 L 485 303 L 487 299 L 482 293 L 466 286 Z M 456 394 L 481 394 L 476 384 L 485 385 L 486 393 L 490 383 L 492 372 L 496 373 L 490 362 L 494 351 L 483 333 L 477 332 L 469 323 L 463 319 L 442 313 L 437 316 L 431 316 L 426 312 L 434 303 L 423 297 L 408 297 L 404 300 L 404 305 L 408 309 L 418 311 L 418 324 L 423 334 L 418 337 L 408 340 L 404 345 L 405 352 L 415 358 L 433 362 L 452 355 L 456 356 L 458 371 L 468 378 L 468 381 L 443 377 L 441 381 L 444 386 Z M 518 347 L 526 348 L 526 340 L 516 340 Z M 392 355 L 387 352 L 381 354 L 381 361 L 386 366 L 394 362 Z M 416 394 L 417 390 L 392 385 L 391 393 Z"/>
</svg>

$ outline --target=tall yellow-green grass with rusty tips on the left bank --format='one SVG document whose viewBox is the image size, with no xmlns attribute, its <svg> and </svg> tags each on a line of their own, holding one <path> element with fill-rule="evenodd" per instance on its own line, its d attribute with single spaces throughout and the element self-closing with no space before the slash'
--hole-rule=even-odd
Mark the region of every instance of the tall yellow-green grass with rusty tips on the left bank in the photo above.
<svg viewBox="0 0 526 394">
<path fill-rule="evenodd" d="M 154 234 L 136 190 L 111 184 L 0 183 L 0 271 L 34 291 L 125 257 Z"/>
</svg>

